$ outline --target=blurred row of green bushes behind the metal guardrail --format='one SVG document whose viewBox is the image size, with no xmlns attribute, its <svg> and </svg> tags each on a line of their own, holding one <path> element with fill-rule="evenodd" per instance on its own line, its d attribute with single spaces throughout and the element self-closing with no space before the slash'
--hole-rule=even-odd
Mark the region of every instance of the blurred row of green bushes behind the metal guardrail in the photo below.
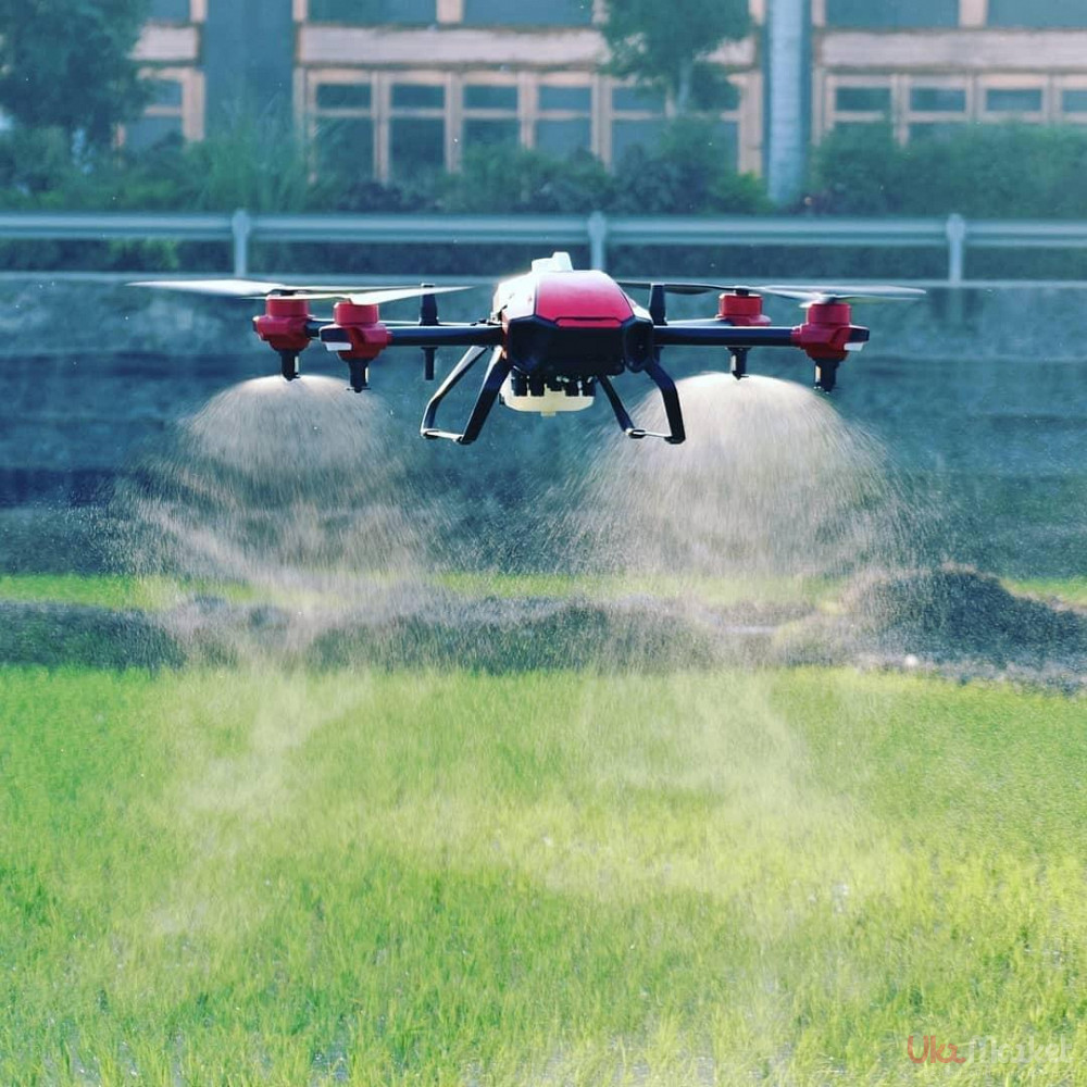
<svg viewBox="0 0 1087 1087">
<path fill-rule="evenodd" d="M 353 212 L 370 214 L 919 215 L 971 218 L 1087 217 L 1087 129 L 962 125 L 954 138 L 900 146 L 885 125 L 842 126 L 815 150 L 809 193 L 775 209 L 762 182 L 724 163 L 728 134 L 680 117 L 654 146 L 635 147 L 607 170 L 587 152 L 558 158 L 526 148 L 468 148 L 455 174 L 390 184 L 343 172 L 315 175 L 313 148 L 274 116 L 239 115 L 199 143 L 168 138 L 139 153 L 90 149 L 80 159 L 58 126 L 0 134 L 0 208 L 8 210 Z M 257 243 L 254 267 L 277 272 L 491 275 L 513 272 L 541 246 Z M 557 241 L 555 245 L 559 245 Z M 587 254 L 579 253 L 584 263 Z M 610 266 L 641 274 L 726 277 L 940 278 L 942 248 L 612 247 Z M 0 267 L 225 271 L 229 246 L 213 242 L 9 241 Z M 971 250 L 975 278 L 1087 278 L 1087 253 Z"/>
</svg>

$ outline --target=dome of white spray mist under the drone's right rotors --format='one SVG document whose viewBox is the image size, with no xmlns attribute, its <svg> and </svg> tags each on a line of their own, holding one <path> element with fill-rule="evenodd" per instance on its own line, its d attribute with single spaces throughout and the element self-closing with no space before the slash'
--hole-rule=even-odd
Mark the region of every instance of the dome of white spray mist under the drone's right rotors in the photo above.
<svg viewBox="0 0 1087 1087">
<path fill-rule="evenodd" d="M 911 541 L 883 450 L 816 392 L 769 377 L 678 383 L 687 440 L 616 442 L 585 533 L 623 569 L 678 576 L 840 577 L 899 564 Z M 665 426 L 660 398 L 636 417 Z"/>
</svg>

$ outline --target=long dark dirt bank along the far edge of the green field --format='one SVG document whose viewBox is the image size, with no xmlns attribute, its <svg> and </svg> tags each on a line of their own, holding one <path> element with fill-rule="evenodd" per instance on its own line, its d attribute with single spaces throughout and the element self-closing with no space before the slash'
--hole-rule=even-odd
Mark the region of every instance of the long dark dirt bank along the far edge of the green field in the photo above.
<svg viewBox="0 0 1087 1087">
<path fill-rule="evenodd" d="M 694 596 L 473 598 L 384 585 L 364 602 L 299 609 L 216 596 L 157 614 L 0 604 L 0 663 L 493 673 L 860 664 L 1079 690 L 1087 615 L 953 567 L 865 575 L 822 608 L 722 608 Z"/>
</svg>

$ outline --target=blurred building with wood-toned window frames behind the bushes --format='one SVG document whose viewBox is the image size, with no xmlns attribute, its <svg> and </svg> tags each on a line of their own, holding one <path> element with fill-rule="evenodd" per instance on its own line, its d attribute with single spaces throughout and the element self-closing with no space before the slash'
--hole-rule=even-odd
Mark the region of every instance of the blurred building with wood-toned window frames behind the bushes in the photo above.
<svg viewBox="0 0 1087 1087">
<path fill-rule="evenodd" d="M 1085 0 L 751 0 L 751 13 L 752 35 L 715 54 L 739 90 L 723 153 L 772 190 L 777 172 L 779 193 L 839 125 L 889 120 L 907 141 L 970 122 L 1087 123 Z M 138 57 L 157 97 L 126 138 L 199 139 L 248 101 L 292 111 L 323 158 L 379 180 L 455 168 L 487 143 L 614 164 L 652 140 L 664 102 L 600 74 L 601 15 L 602 0 L 153 0 Z"/>
</svg>

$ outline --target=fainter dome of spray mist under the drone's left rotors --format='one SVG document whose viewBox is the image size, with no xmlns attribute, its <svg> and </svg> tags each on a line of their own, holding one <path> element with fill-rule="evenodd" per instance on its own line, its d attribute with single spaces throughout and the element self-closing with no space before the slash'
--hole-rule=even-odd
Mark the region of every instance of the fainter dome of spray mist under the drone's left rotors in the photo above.
<svg viewBox="0 0 1087 1087">
<path fill-rule="evenodd" d="M 221 392 L 145 465 L 137 562 L 196 578 L 349 588 L 411 577 L 434 512 L 421 507 L 373 393 L 307 376 Z"/>
</svg>

